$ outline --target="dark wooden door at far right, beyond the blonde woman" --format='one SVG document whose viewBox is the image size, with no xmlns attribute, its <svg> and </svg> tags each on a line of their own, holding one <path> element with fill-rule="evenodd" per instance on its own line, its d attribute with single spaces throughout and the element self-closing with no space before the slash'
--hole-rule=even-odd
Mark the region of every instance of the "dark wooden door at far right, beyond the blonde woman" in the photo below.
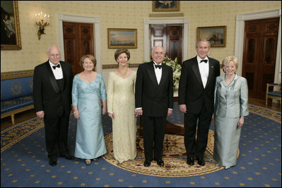
<svg viewBox="0 0 282 188">
<path fill-rule="evenodd" d="M 279 18 L 245 22 L 242 76 L 249 97 L 265 99 L 266 84 L 274 82 Z"/>
</svg>

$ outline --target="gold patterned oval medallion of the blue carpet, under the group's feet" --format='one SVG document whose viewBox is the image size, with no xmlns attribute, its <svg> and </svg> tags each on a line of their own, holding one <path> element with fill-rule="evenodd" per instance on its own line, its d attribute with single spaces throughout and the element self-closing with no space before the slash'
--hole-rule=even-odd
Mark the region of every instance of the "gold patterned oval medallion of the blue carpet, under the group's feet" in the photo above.
<svg viewBox="0 0 282 188">
<path fill-rule="evenodd" d="M 204 166 L 198 165 L 196 161 L 195 165 L 187 165 L 184 137 L 176 134 L 165 134 L 163 149 L 163 161 L 165 165 L 163 167 L 158 166 L 155 161 L 152 161 L 149 168 L 143 166 L 145 157 L 143 152 L 143 137 L 137 137 L 136 139 L 136 158 L 132 161 L 119 164 L 114 159 L 112 133 L 107 134 L 105 137 L 107 153 L 103 158 L 117 168 L 141 175 L 151 175 L 154 177 L 192 177 L 206 175 L 224 169 L 223 166 L 216 166 L 216 162 L 213 160 L 213 135 L 213 130 L 209 130 L 208 146 L 204 154 L 206 165 Z"/>
</svg>

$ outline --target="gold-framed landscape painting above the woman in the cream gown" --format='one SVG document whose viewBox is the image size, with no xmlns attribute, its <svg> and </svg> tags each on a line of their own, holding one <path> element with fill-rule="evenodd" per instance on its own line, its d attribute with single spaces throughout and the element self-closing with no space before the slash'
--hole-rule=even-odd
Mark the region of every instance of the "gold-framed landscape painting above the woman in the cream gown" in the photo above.
<svg viewBox="0 0 282 188">
<path fill-rule="evenodd" d="M 136 49 L 137 29 L 107 29 L 109 49 Z"/>
</svg>

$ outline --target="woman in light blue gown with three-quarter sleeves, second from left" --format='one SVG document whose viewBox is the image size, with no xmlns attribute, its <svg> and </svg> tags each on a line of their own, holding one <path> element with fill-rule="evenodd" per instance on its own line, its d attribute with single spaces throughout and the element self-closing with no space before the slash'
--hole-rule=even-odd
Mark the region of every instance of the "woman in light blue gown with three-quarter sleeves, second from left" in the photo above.
<svg viewBox="0 0 282 188">
<path fill-rule="evenodd" d="M 95 73 L 96 59 L 92 55 L 81 57 L 80 65 L 84 71 L 74 76 L 72 102 L 74 118 L 77 119 L 76 149 L 74 156 L 85 158 L 86 165 L 91 159 L 107 153 L 102 131 L 102 114 L 107 113 L 107 94 L 100 73 Z"/>
</svg>

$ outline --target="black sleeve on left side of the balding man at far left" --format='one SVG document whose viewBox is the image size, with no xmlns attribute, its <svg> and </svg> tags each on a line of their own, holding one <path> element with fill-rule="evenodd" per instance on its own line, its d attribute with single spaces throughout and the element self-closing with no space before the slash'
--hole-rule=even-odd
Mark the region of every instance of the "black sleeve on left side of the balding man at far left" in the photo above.
<svg viewBox="0 0 282 188">
<path fill-rule="evenodd" d="M 43 111 L 42 106 L 42 73 L 40 67 L 35 67 L 33 73 L 33 104 L 35 111 Z"/>
</svg>

